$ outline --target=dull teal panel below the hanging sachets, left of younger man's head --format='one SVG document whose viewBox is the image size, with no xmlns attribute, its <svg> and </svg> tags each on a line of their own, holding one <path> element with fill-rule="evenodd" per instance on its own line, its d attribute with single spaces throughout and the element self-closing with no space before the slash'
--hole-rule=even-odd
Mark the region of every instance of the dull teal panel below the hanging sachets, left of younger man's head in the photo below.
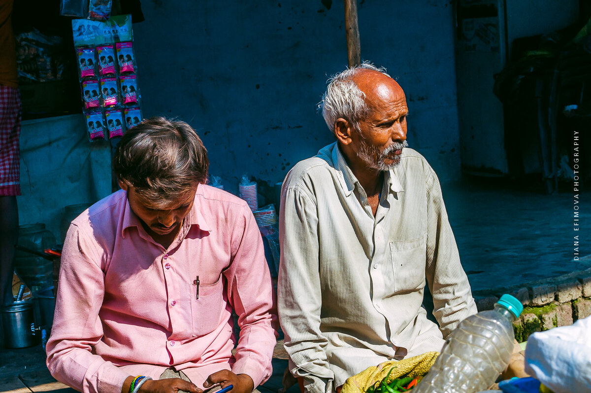
<svg viewBox="0 0 591 393">
<path fill-rule="evenodd" d="M 111 194 L 111 146 L 90 142 L 85 118 L 67 115 L 26 120 L 21 128 L 21 193 L 17 197 L 20 225 L 44 223 L 61 236 L 77 214 L 63 223 L 64 207 L 89 207 Z"/>
</svg>

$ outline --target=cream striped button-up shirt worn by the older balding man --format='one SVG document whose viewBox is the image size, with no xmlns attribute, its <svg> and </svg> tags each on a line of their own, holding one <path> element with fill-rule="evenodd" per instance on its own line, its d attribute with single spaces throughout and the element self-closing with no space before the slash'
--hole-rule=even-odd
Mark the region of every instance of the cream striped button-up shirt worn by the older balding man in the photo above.
<svg viewBox="0 0 591 393">
<path fill-rule="evenodd" d="M 336 143 L 298 163 L 282 187 L 280 242 L 285 350 L 309 392 L 440 350 L 476 313 L 439 180 L 413 149 L 385 172 L 375 217 Z M 426 282 L 441 330 L 421 307 Z"/>
</svg>

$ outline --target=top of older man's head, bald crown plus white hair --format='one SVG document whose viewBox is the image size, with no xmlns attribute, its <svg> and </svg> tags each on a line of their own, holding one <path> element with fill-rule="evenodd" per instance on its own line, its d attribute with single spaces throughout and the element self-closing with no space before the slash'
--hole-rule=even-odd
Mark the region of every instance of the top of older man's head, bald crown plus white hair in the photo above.
<svg viewBox="0 0 591 393">
<path fill-rule="evenodd" d="M 392 99 L 393 94 L 404 99 L 404 92 L 383 68 L 369 62 L 351 67 L 329 79 L 319 108 L 330 131 L 335 132 L 339 118 L 358 126 L 375 105 Z"/>
</svg>

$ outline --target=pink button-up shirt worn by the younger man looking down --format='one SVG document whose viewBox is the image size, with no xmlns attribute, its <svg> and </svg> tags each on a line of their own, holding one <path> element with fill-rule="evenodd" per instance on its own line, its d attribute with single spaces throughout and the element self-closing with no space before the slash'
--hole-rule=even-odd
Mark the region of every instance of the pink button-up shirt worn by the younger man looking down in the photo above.
<svg viewBox="0 0 591 393">
<path fill-rule="evenodd" d="M 129 375 L 158 379 L 166 368 L 200 387 L 222 369 L 257 386 L 271 375 L 272 293 L 261 234 L 242 199 L 199 185 L 164 249 L 118 191 L 72 221 L 47 366 L 83 392 L 119 393 Z M 241 327 L 235 355 L 232 309 Z"/>
</svg>

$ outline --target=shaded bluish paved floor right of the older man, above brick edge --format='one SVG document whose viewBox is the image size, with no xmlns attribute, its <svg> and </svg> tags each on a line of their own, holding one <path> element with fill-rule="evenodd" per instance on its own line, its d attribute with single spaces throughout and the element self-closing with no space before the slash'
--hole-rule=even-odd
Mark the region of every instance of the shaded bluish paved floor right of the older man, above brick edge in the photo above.
<svg viewBox="0 0 591 393">
<path fill-rule="evenodd" d="M 490 179 L 443 185 L 443 198 L 473 289 L 521 284 L 591 268 L 591 186 L 541 194 Z M 520 187 L 521 188 L 521 187 Z M 572 189 L 563 185 L 562 189 Z M 581 189 L 581 188 L 579 188 Z M 574 220 L 579 201 L 579 221 Z M 573 231 L 573 223 L 579 231 Z M 579 236 L 579 261 L 573 237 Z"/>
</svg>

